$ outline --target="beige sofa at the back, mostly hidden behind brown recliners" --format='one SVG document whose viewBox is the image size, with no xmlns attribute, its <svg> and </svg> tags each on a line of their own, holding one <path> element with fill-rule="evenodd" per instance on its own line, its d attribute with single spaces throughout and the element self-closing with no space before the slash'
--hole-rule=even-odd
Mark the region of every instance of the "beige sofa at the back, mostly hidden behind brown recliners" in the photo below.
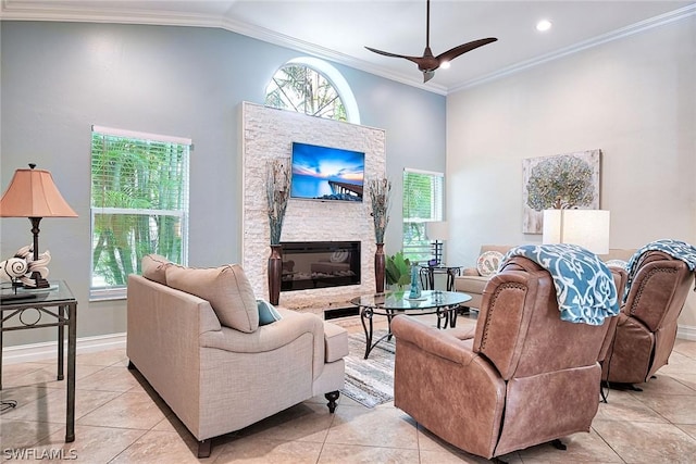
<svg viewBox="0 0 696 464">
<path fill-rule="evenodd" d="M 511 248 L 517 247 L 512 244 L 483 244 L 481 247 L 481 252 L 478 253 L 477 265 L 474 267 L 465 267 L 462 269 L 461 275 L 455 277 L 455 291 L 461 291 L 464 293 L 471 294 L 471 300 L 467 303 L 469 308 L 480 309 L 481 308 L 481 299 L 483 296 L 483 289 L 488 284 L 488 280 L 495 272 L 492 272 L 492 265 L 495 264 L 495 259 L 486 259 L 497 252 L 500 254 L 507 253 Z M 600 254 L 605 262 L 610 262 L 612 260 L 617 261 L 629 261 L 633 253 L 635 253 L 635 249 L 619 249 L 614 248 L 609 250 L 608 254 Z M 486 271 L 490 274 L 487 274 Z"/>
</svg>

